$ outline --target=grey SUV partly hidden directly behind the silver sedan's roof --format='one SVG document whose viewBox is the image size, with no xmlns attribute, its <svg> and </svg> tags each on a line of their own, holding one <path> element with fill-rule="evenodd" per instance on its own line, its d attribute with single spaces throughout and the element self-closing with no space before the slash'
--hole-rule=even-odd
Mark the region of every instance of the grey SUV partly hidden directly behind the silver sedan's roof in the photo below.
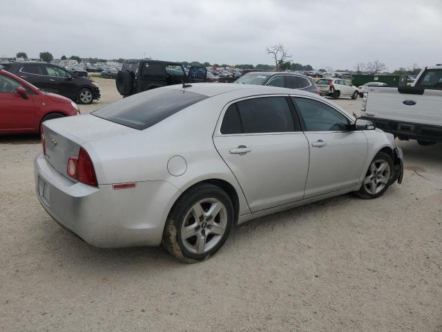
<svg viewBox="0 0 442 332">
<path fill-rule="evenodd" d="M 279 86 L 281 88 L 302 89 L 320 94 L 311 77 L 290 72 L 253 71 L 242 75 L 235 83 Z"/>
</svg>

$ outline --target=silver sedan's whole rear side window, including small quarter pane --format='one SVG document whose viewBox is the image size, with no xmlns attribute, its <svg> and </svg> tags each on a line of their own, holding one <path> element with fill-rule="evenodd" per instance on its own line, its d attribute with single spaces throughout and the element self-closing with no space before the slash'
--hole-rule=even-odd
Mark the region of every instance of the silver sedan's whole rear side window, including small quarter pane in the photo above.
<svg viewBox="0 0 442 332">
<path fill-rule="evenodd" d="M 227 109 L 221 133 L 284 133 L 295 131 L 284 97 L 242 100 Z"/>
</svg>

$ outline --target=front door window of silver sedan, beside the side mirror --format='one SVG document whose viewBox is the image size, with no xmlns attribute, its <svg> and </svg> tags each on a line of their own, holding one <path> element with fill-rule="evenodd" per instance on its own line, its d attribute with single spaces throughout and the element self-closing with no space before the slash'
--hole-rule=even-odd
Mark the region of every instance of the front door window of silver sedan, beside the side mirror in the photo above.
<svg viewBox="0 0 442 332">
<path fill-rule="evenodd" d="M 332 107 L 307 98 L 294 98 L 306 131 L 348 130 L 348 120 Z"/>
</svg>

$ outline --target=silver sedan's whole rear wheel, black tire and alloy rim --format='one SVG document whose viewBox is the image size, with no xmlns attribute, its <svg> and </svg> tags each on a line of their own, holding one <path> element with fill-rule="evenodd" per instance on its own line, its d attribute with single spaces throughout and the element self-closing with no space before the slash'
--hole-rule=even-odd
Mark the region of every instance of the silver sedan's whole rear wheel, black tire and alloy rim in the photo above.
<svg viewBox="0 0 442 332">
<path fill-rule="evenodd" d="M 180 261 L 203 261 L 222 247 L 233 219 L 233 204 L 224 190 L 209 183 L 196 185 L 173 205 L 162 244 Z"/>
</svg>

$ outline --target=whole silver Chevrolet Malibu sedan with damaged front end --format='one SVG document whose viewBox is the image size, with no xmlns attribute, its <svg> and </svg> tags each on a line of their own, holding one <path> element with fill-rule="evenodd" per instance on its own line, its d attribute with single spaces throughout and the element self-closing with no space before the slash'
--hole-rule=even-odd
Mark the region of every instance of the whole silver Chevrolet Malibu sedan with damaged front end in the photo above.
<svg viewBox="0 0 442 332">
<path fill-rule="evenodd" d="M 394 137 L 325 98 L 247 84 L 185 84 L 46 121 L 35 185 L 93 246 L 159 246 L 195 262 L 258 216 L 402 180 Z"/>
</svg>

